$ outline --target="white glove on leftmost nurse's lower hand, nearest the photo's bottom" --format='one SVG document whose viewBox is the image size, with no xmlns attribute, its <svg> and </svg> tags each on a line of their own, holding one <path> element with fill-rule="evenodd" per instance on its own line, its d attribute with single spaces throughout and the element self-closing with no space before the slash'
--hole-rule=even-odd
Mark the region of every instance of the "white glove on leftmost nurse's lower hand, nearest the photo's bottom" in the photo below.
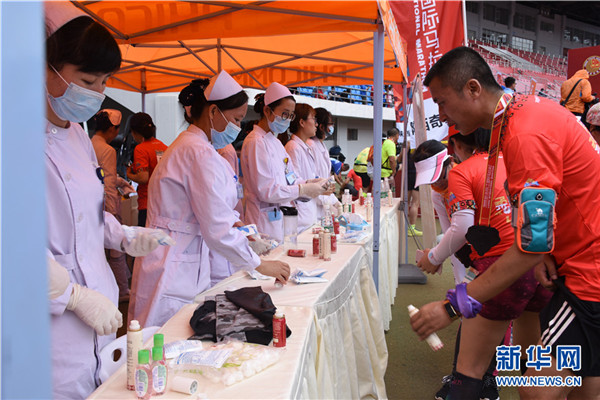
<svg viewBox="0 0 600 400">
<path fill-rule="evenodd" d="M 123 315 L 112 301 L 102 293 L 77 283 L 73 284 L 67 310 L 73 311 L 101 336 L 115 333 L 123 325 Z"/>
</svg>

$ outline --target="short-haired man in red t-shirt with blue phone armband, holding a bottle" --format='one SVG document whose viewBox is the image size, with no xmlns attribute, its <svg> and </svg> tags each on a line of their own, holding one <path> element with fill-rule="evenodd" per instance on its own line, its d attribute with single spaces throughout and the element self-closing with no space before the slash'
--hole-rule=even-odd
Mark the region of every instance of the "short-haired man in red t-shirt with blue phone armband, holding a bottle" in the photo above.
<svg viewBox="0 0 600 400">
<path fill-rule="evenodd" d="M 581 387 L 568 385 L 520 387 L 522 399 L 598 398 L 600 393 L 600 152 L 589 132 L 558 104 L 537 96 L 515 96 L 508 101 L 494 76 L 474 50 L 459 47 L 444 54 L 431 68 L 424 84 L 438 104 L 440 119 L 460 132 L 477 127 L 492 127 L 500 119 L 499 137 L 503 150 L 510 200 L 514 202 L 527 188 L 550 188 L 556 192 L 553 229 L 552 210 L 536 210 L 536 221 L 545 221 L 541 230 L 547 241 L 554 240 L 556 265 L 552 256 L 525 252 L 513 244 L 485 273 L 460 293 L 459 311 L 465 316 L 477 313 L 478 302 L 485 302 L 536 265 L 536 276 L 547 287 L 556 289 L 550 303 L 540 314 L 541 346 L 550 346 L 550 366 L 529 368 L 526 376 L 584 377 Z M 491 148 L 495 146 L 493 141 Z M 531 192 L 531 191 L 529 191 Z M 537 192 L 544 199 L 541 191 Z M 548 202 L 547 202 L 548 203 Z M 550 201 L 551 203 L 551 201 Z M 531 216 L 530 216 L 531 218 Z M 528 221 L 525 221 L 528 222 Z M 536 222 L 537 223 L 537 222 Z M 531 226 L 533 226 L 533 222 Z M 539 225 L 535 225 L 539 226 Z M 537 235 L 537 231 L 530 231 Z M 524 237 L 526 231 L 517 234 Z M 551 247 L 551 246 L 549 246 Z M 543 264 L 540 262 L 544 261 Z M 452 293 L 449 294 L 452 298 Z M 459 296 L 455 297 L 455 300 Z M 455 303 L 457 303 L 455 301 Z M 464 311 L 464 312 L 463 312 Z M 468 315 L 467 315 L 468 314 Z M 421 307 L 411 318 L 413 329 L 427 337 L 451 322 L 444 302 Z M 576 353 L 566 363 L 565 346 Z M 574 351 L 575 351 L 574 350 Z M 559 365 L 557 361 L 562 360 Z M 535 360 L 532 360 L 535 361 Z M 578 365 L 579 364 L 579 365 Z M 459 397 L 475 399 L 481 381 L 469 370 L 463 373 Z"/>
</svg>

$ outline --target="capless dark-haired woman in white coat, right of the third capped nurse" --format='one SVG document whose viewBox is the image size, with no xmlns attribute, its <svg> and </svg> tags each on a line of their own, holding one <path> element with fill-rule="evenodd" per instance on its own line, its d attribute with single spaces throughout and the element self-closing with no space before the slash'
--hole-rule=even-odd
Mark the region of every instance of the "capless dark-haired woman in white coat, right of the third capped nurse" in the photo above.
<svg viewBox="0 0 600 400">
<path fill-rule="evenodd" d="M 308 104 L 298 103 L 294 111 L 296 118 L 290 124 L 291 139 L 286 143 L 285 150 L 290 155 L 294 172 L 300 179 L 318 178 L 317 158 L 314 150 L 307 145 L 309 138 L 317 132 L 315 110 Z M 298 208 L 298 232 L 304 231 L 317 222 L 317 200 L 296 202 Z"/>
</svg>

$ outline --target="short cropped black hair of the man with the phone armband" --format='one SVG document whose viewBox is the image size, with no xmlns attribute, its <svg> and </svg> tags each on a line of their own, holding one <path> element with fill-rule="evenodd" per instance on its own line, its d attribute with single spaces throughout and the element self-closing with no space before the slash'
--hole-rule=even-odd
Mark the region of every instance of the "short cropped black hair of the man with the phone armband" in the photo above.
<svg viewBox="0 0 600 400">
<path fill-rule="evenodd" d="M 477 79 L 489 91 L 502 90 L 490 66 L 469 47 L 457 47 L 444 54 L 431 67 L 423 84 L 429 86 L 436 77 L 440 79 L 442 87 L 450 86 L 456 92 L 460 92 L 470 79 Z"/>
</svg>

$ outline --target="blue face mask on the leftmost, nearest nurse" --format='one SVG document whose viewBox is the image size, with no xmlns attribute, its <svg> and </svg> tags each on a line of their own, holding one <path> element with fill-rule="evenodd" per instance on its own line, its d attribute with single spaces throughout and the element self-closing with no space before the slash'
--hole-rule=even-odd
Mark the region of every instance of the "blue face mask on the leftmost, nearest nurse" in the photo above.
<svg viewBox="0 0 600 400">
<path fill-rule="evenodd" d="M 71 122 L 85 122 L 92 118 L 100 110 L 105 96 L 73 82 L 68 83 L 56 69 L 54 72 L 68 85 L 67 90 L 60 97 L 53 97 L 46 92 L 48 103 L 56 116 L 63 121 Z"/>
</svg>

